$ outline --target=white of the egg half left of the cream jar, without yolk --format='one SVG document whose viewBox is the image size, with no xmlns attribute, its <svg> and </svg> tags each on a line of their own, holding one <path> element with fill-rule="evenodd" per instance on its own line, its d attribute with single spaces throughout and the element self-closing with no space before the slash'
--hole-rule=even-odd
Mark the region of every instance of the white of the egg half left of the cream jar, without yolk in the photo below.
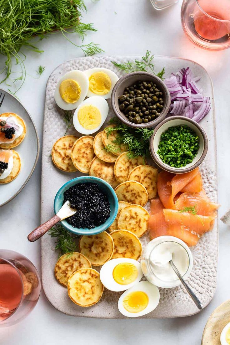
<svg viewBox="0 0 230 345">
<path fill-rule="evenodd" d="M 125 262 L 134 264 L 137 268 L 138 275 L 133 283 L 122 285 L 115 282 L 113 278 L 113 270 L 118 264 L 125 263 Z M 111 290 L 111 291 L 124 291 L 132 287 L 133 285 L 135 285 L 137 282 L 139 282 L 142 276 L 143 276 L 143 273 L 140 267 L 140 263 L 137 260 L 126 259 L 126 258 L 109 260 L 102 266 L 101 271 L 100 271 L 100 279 L 101 279 L 102 284 L 106 287 L 106 289 Z"/>
</svg>

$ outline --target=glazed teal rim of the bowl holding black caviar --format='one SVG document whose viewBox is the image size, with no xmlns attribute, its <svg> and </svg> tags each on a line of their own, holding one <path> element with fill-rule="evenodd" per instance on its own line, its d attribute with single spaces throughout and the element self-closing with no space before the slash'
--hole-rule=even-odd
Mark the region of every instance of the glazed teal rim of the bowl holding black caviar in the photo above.
<svg viewBox="0 0 230 345">
<path fill-rule="evenodd" d="M 61 220 L 60 223 L 62 224 L 62 226 L 70 231 L 73 234 L 76 235 L 96 235 L 96 234 L 100 234 L 102 231 L 106 230 L 114 221 L 114 219 L 116 218 L 117 215 L 117 211 L 118 211 L 118 199 L 117 196 L 115 194 L 114 189 L 112 188 L 111 185 L 109 185 L 106 181 L 104 181 L 103 179 L 99 178 L 99 177 L 95 177 L 95 176 L 79 176 L 79 177 L 75 177 L 72 180 L 67 181 L 61 188 L 59 188 L 59 190 L 57 191 L 55 198 L 54 198 L 54 204 L 53 204 L 53 208 L 54 208 L 54 213 L 57 214 L 57 212 L 59 211 L 59 209 L 57 208 L 57 202 L 58 199 L 60 198 L 60 196 L 63 195 L 63 190 L 67 190 L 66 187 L 71 185 L 72 183 L 76 182 L 75 184 L 84 182 L 84 180 L 87 180 L 87 182 L 92 182 L 92 183 L 98 183 L 98 186 L 100 187 L 100 185 L 104 184 L 106 185 L 106 187 L 109 189 L 111 196 L 114 199 L 114 203 L 115 203 L 115 207 L 113 210 L 111 210 L 111 214 L 109 216 L 108 219 L 110 219 L 108 221 L 108 219 L 105 221 L 105 223 L 103 223 L 100 226 L 96 226 L 95 228 L 92 229 L 88 229 L 88 228 L 74 228 L 72 227 L 72 225 L 70 225 L 69 223 L 67 223 L 67 221 Z M 71 187 L 71 186 L 70 186 Z"/>
</svg>

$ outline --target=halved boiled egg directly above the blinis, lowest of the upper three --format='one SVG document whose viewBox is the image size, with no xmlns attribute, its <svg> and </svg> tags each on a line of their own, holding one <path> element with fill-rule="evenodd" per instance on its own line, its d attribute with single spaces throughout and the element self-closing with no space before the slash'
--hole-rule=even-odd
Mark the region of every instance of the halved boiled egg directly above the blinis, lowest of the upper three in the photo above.
<svg viewBox="0 0 230 345">
<path fill-rule="evenodd" d="M 108 116 L 108 103 L 101 97 L 85 99 L 74 112 L 73 125 L 82 134 L 95 133 Z"/>
</svg>

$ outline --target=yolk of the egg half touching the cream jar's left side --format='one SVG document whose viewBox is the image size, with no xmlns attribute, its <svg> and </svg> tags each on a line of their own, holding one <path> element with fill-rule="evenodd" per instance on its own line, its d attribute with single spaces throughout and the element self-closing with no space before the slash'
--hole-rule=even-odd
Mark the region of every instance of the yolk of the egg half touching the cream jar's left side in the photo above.
<svg viewBox="0 0 230 345">
<path fill-rule="evenodd" d="M 133 283 L 137 276 L 138 272 L 136 266 L 129 262 L 118 264 L 113 270 L 113 279 L 116 283 L 121 285 Z"/>
</svg>

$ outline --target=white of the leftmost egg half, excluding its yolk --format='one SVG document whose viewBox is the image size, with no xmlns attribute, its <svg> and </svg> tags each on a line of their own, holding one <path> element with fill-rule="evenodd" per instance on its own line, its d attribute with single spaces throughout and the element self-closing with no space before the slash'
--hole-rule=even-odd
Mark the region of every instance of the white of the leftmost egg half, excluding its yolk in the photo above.
<svg viewBox="0 0 230 345">
<path fill-rule="evenodd" d="M 60 95 L 59 88 L 60 88 L 61 82 L 63 80 L 66 80 L 66 79 L 75 80 L 81 87 L 80 97 L 75 103 L 66 103 Z M 84 72 L 79 71 L 79 70 L 73 70 L 73 71 L 66 73 L 63 77 L 61 77 L 59 79 L 59 81 L 57 83 L 56 89 L 54 91 L 55 102 L 63 110 L 76 109 L 76 107 L 78 107 L 80 105 L 80 103 L 84 101 L 84 99 L 86 97 L 86 93 L 88 91 L 88 85 L 89 85 L 88 78 Z"/>
</svg>

